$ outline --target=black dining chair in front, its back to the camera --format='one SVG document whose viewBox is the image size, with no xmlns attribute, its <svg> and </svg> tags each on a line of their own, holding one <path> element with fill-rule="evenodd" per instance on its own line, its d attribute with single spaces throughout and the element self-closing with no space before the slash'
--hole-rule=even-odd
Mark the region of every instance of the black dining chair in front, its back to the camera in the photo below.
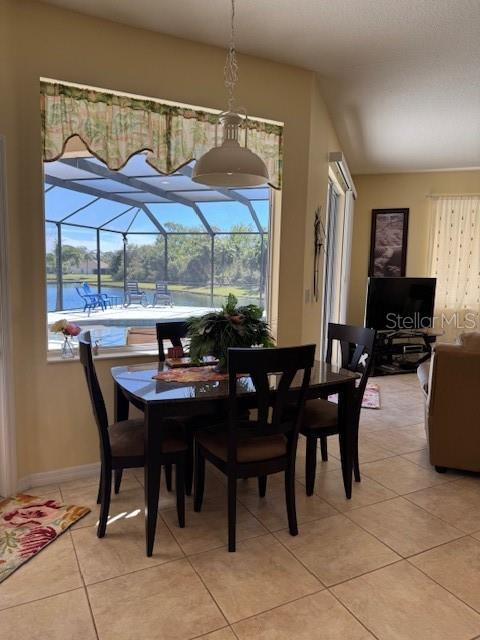
<svg viewBox="0 0 480 640">
<path fill-rule="evenodd" d="M 298 534 L 295 457 L 314 357 L 315 345 L 228 350 L 227 422 L 195 435 L 194 509 L 198 512 L 202 508 L 208 460 L 228 479 L 229 551 L 235 551 L 236 546 L 238 478 L 257 477 L 264 495 L 267 476 L 283 471 L 288 527 L 292 536 Z M 300 389 L 294 388 L 292 383 L 301 371 Z M 248 378 L 253 389 L 245 389 Z M 273 379 L 275 392 L 270 386 Z M 255 391 L 255 420 L 245 419 L 241 397 L 245 390 Z"/>
</svg>

